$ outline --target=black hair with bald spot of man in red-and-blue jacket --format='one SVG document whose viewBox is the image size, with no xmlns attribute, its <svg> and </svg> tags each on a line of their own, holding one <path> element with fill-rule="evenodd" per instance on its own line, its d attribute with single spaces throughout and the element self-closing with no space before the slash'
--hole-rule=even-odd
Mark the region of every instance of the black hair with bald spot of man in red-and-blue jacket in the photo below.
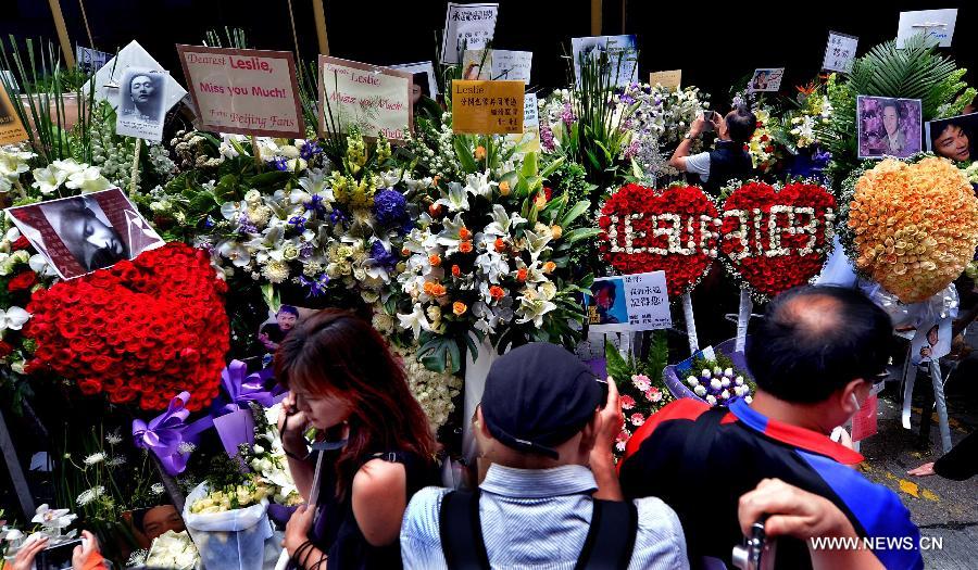
<svg viewBox="0 0 978 570">
<path fill-rule="evenodd" d="M 808 286 L 770 302 L 751 333 L 747 359 L 761 390 L 785 402 L 812 404 L 857 378 L 874 381 L 892 347 L 889 315 L 864 294 Z"/>
</svg>

